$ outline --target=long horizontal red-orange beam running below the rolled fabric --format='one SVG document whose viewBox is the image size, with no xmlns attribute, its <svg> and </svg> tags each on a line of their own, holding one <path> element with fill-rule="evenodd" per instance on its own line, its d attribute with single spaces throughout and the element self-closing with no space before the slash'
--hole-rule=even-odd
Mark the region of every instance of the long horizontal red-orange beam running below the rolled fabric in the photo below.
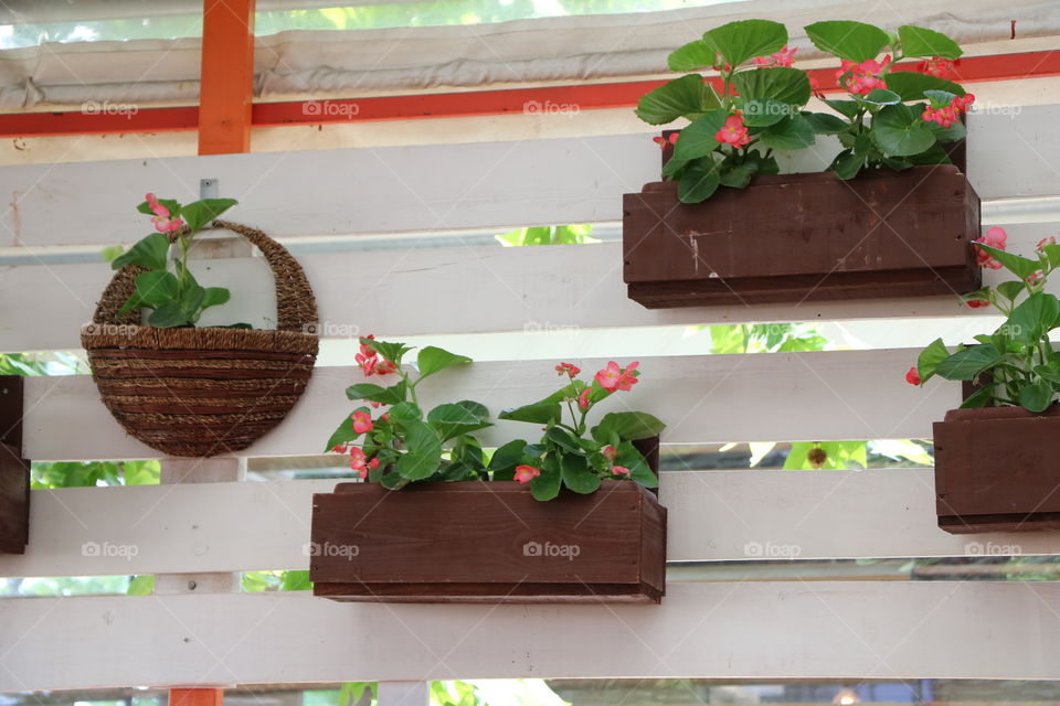
<svg viewBox="0 0 1060 706">
<path fill-rule="evenodd" d="M 907 64 L 903 68 L 912 68 Z M 817 68 L 810 76 L 825 87 L 835 88 L 835 68 Z M 961 60 L 955 78 L 961 83 L 1019 81 L 1060 76 L 1060 51 L 1026 52 Z M 282 125 L 321 125 L 369 120 L 410 120 L 480 115 L 545 113 L 577 106 L 579 110 L 628 108 L 662 81 L 636 81 L 615 84 L 582 84 L 498 90 L 347 98 L 299 103 L 258 103 L 252 120 L 241 132 L 248 148 L 250 129 Z M 246 84 L 250 90 L 250 84 Z M 247 94 L 248 96 L 248 94 Z M 248 101 L 250 98 L 247 97 Z M 247 103 L 248 105 L 248 103 Z M 61 135 L 108 135 L 194 130 L 200 124 L 198 110 L 189 108 L 145 108 L 114 115 L 105 109 L 84 113 L 17 113 L 0 115 L 0 137 L 47 137 Z M 243 142 L 241 142 L 242 145 Z M 245 151 L 244 149 L 221 151 Z M 211 153 L 211 152 L 202 152 Z"/>
</svg>

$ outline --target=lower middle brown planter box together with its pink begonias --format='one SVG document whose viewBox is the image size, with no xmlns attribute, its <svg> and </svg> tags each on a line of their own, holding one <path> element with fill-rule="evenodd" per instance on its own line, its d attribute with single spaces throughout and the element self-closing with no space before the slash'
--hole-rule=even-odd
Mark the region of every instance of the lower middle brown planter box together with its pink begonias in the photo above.
<svg viewBox="0 0 1060 706">
<path fill-rule="evenodd" d="M 636 364 L 623 370 L 612 363 L 591 384 L 577 379 L 575 366 L 561 364 L 558 371 L 568 377 L 561 389 L 500 415 L 543 426 L 543 437 L 489 453 L 474 437 L 491 426 L 484 405 L 462 400 L 424 414 L 417 402 L 422 381 L 470 359 L 427 346 L 413 371 L 402 367 L 410 351 L 361 339 L 357 357 L 364 375 L 393 375 L 395 382 L 347 391 L 368 404 L 343 419 L 328 448 L 348 454 L 368 482 L 314 495 L 315 595 L 394 602 L 658 602 L 666 510 L 645 490 L 657 480 L 634 443 L 651 456 L 662 425 L 642 413 L 612 413 L 591 429 L 586 422 L 596 404 L 636 383 Z M 563 408 L 572 419 L 563 419 Z"/>
</svg>

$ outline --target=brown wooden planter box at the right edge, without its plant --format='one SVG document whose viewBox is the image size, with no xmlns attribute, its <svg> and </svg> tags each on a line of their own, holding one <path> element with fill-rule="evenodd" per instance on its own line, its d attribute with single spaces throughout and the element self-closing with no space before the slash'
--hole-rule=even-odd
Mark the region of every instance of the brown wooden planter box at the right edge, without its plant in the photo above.
<svg viewBox="0 0 1060 706">
<path fill-rule="evenodd" d="M 933 426 L 940 527 L 1060 530 L 1060 407 L 951 409 Z"/>
</svg>

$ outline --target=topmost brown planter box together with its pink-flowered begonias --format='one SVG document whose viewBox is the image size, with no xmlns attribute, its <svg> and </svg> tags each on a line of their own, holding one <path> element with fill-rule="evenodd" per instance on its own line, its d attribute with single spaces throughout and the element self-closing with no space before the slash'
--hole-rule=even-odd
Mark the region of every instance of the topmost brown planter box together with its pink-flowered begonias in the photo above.
<svg viewBox="0 0 1060 706">
<path fill-rule="evenodd" d="M 961 49 L 904 25 L 817 22 L 814 44 L 841 60 L 841 100 L 805 109 L 814 90 L 792 66 L 784 25 L 730 22 L 670 54 L 678 72 L 713 67 L 644 96 L 651 125 L 688 120 L 656 138 L 662 176 L 623 197 L 624 279 L 648 308 L 908 297 L 982 284 L 969 242 L 979 201 L 944 146 L 965 136 L 974 100 L 942 74 Z M 886 56 L 881 56 L 882 54 Z M 921 71 L 898 62 L 925 57 Z M 717 87 L 716 87 L 717 86 Z M 828 171 L 778 174 L 775 151 L 835 136 Z"/>
</svg>

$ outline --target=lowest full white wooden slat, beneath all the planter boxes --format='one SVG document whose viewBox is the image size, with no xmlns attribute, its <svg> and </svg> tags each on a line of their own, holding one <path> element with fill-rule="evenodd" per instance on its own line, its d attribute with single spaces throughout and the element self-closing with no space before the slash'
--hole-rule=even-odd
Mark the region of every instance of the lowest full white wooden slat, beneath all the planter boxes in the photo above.
<svg viewBox="0 0 1060 706">
<path fill-rule="evenodd" d="M 670 585 L 661 606 L 0 600 L 0 691 L 506 677 L 1060 678 L 1060 586 Z"/>
</svg>

